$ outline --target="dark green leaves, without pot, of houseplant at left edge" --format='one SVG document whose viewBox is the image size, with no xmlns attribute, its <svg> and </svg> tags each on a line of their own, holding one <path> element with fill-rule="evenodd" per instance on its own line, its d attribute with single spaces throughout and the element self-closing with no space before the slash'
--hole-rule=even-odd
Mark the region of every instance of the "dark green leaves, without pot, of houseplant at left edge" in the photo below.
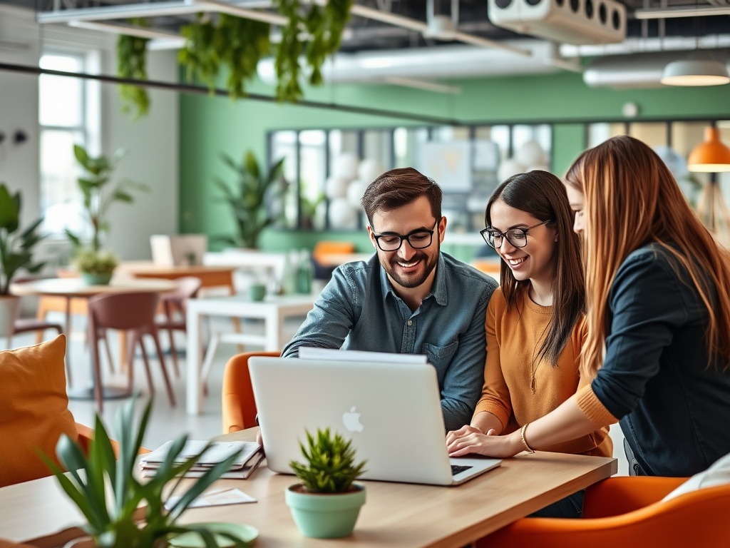
<svg viewBox="0 0 730 548">
<path fill-rule="evenodd" d="M 0 295 L 9 293 L 10 281 L 18 270 L 37 273 L 44 265 L 33 261 L 33 248 L 43 238 L 39 232 L 43 218 L 18 232 L 21 204 L 20 191 L 11 195 L 5 183 L 0 183 Z"/>
</svg>

